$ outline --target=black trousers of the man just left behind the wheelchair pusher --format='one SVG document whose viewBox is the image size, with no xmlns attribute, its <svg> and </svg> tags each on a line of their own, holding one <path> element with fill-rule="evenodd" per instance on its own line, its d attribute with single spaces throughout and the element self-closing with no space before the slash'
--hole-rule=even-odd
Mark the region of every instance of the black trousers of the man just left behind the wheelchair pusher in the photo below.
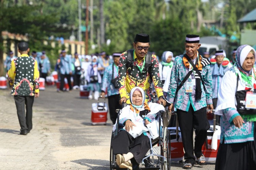
<svg viewBox="0 0 256 170">
<path fill-rule="evenodd" d="M 121 105 L 119 104 L 119 94 L 108 96 L 108 108 L 110 120 L 115 124 L 117 120 L 116 109 L 121 109 Z"/>
</svg>

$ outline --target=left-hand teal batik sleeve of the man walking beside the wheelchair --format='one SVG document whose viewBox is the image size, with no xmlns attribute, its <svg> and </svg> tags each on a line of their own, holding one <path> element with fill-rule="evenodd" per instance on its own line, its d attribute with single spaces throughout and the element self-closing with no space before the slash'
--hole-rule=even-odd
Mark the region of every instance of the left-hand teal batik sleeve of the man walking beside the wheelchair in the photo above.
<svg viewBox="0 0 256 170">
<path fill-rule="evenodd" d="M 171 70 L 171 77 L 170 77 L 170 84 L 168 87 L 168 95 L 169 95 L 169 102 L 173 103 L 174 102 L 174 97 L 175 97 L 175 92 L 177 89 L 178 85 L 178 64 L 177 61 L 179 60 L 180 57 L 177 57 L 174 61 L 174 65 L 172 66 Z"/>
</svg>

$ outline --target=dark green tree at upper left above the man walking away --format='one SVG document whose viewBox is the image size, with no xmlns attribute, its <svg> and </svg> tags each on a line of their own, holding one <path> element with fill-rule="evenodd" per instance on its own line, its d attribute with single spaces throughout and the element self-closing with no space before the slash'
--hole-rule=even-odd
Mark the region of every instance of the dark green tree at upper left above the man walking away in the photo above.
<svg viewBox="0 0 256 170">
<path fill-rule="evenodd" d="M 0 5 L 0 33 L 8 31 L 27 35 L 31 41 L 31 48 L 36 43 L 42 46 L 40 40 L 47 39 L 47 36 L 55 31 L 54 24 L 58 18 L 53 14 L 40 15 L 41 6 L 17 6 L 12 3 L 5 3 L 4 0 L 1 0 Z M 25 15 L 24 11 L 26 11 Z M 3 47 L 3 37 L 0 36 L 0 75 L 3 75 L 3 52 L 5 50 L 7 49 Z"/>
</svg>

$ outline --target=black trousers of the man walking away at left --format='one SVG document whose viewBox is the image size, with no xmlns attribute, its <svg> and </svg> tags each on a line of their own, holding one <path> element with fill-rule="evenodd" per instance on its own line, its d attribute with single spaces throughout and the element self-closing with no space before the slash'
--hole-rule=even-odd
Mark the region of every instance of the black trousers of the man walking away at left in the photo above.
<svg viewBox="0 0 256 170">
<path fill-rule="evenodd" d="M 30 131 L 32 129 L 32 106 L 34 103 L 34 96 L 14 96 L 14 101 L 17 109 L 20 131 Z"/>
</svg>

